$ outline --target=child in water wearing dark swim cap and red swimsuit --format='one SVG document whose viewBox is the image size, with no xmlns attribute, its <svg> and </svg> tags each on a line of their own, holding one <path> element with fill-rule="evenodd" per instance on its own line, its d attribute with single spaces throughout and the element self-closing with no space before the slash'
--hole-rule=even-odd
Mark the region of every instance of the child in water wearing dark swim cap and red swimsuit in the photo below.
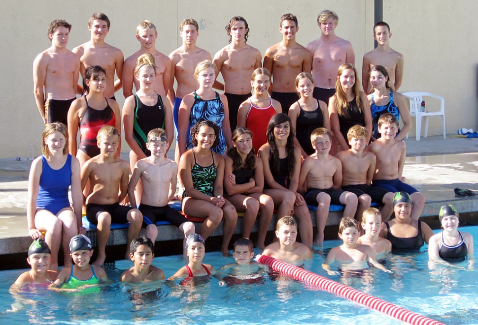
<svg viewBox="0 0 478 325">
<path fill-rule="evenodd" d="M 168 280 L 175 280 L 177 278 L 191 279 L 197 276 L 209 276 L 214 271 L 214 267 L 208 264 L 203 264 L 205 256 L 204 239 L 199 234 L 189 235 L 186 239 L 186 250 L 189 257 L 189 263 L 181 267 Z"/>
</svg>

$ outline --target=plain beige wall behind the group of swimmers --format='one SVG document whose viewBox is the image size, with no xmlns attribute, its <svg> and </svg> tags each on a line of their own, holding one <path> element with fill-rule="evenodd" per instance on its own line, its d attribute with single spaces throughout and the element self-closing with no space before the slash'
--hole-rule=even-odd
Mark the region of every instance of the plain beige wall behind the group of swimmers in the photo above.
<svg viewBox="0 0 478 325">
<path fill-rule="evenodd" d="M 138 49 L 136 26 L 143 19 L 157 26 L 157 48 L 169 54 L 180 45 L 179 22 L 186 17 L 195 18 L 200 23 L 198 46 L 214 55 L 227 44 L 226 23 L 232 16 L 240 15 L 246 18 L 251 30 L 248 44 L 264 54 L 281 39 L 278 21 L 282 14 L 291 12 L 298 16 L 297 40 L 305 45 L 320 34 L 317 13 L 331 9 L 340 18 L 336 33 L 351 41 L 359 71 L 364 53 L 374 46 L 374 0 L 144 3 L 147 6 L 140 7 L 126 0 L 68 1 L 61 5 L 53 0 L 1 2 L 0 158 L 25 157 L 31 143 L 35 154 L 39 154 L 43 126 L 34 101 L 32 64 L 35 56 L 51 45 L 46 28 L 54 19 L 63 18 L 73 25 L 68 42 L 68 48 L 72 49 L 89 39 L 87 21 L 91 14 L 106 13 L 111 20 L 106 41 L 120 48 L 127 57 Z M 474 55 L 478 44 L 473 40 L 473 31 L 478 30 L 478 22 L 472 15 L 478 3 L 473 0 L 449 3 L 447 0 L 384 0 L 383 15 L 392 28 L 392 47 L 405 56 L 401 90 L 425 90 L 443 95 L 447 103 L 447 131 L 454 133 L 458 127 L 477 128 Z M 121 107 L 124 102 L 121 91 L 116 93 L 116 98 Z M 438 134 L 441 127 L 438 118 L 432 119 L 431 124 L 430 133 Z"/>
</svg>

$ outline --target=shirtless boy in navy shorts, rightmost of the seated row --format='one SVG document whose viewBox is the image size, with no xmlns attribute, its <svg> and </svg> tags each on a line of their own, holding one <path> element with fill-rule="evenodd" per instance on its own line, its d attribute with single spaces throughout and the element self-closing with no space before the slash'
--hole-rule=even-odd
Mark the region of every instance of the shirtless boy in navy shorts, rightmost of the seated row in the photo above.
<svg viewBox="0 0 478 325">
<path fill-rule="evenodd" d="M 367 147 L 367 151 L 375 153 L 377 159 L 372 184 L 393 193 L 407 192 L 413 201 L 410 218 L 418 220 L 425 206 L 425 197 L 413 186 L 401 180 L 405 165 L 406 146 L 404 141 L 395 139 L 397 131 L 398 120 L 391 113 L 385 113 L 378 119 L 378 133 L 381 136 Z M 387 216 L 382 214 L 382 217 L 386 218 Z M 386 220 L 384 219 L 384 221 Z"/>
</svg>

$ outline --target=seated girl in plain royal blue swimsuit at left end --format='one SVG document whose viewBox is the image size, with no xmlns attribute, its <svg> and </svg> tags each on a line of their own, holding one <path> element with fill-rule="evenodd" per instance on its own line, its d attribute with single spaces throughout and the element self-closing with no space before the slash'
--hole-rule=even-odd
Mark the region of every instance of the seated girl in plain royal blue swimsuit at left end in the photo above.
<svg viewBox="0 0 478 325">
<path fill-rule="evenodd" d="M 33 239 L 44 236 L 51 249 L 51 268 L 58 270 L 60 244 L 65 266 L 70 266 L 69 240 L 78 233 L 86 233 L 81 222 L 80 164 L 68 154 L 65 124 L 48 124 L 41 138 L 43 154 L 32 162 L 28 177 L 28 232 Z M 74 212 L 68 200 L 70 185 Z"/>
</svg>

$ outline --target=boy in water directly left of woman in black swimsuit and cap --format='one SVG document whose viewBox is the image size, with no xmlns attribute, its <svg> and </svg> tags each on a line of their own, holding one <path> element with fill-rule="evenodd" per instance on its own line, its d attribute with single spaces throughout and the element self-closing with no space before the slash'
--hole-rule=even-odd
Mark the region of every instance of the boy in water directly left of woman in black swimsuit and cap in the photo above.
<svg viewBox="0 0 478 325">
<path fill-rule="evenodd" d="M 392 250 L 392 243 L 390 240 L 381 238 L 378 235 L 382 230 L 383 222 L 380 211 L 375 207 L 369 207 L 362 215 L 362 228 L 365 230 L 365 235 L 360 236 L 357 244 L 369 245 L 375 252 L 375 259 L 382 260 L 385 254 Z"/>
</svg>

